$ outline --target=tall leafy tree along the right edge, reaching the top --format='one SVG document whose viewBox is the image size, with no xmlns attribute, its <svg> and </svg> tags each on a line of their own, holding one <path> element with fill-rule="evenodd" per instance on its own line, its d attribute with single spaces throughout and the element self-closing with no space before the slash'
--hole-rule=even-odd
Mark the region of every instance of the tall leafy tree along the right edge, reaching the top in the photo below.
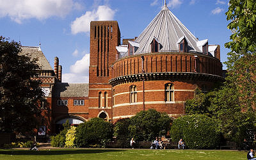
<svg viewBox="0 0 256 160">
<path fill-rule="evenodd" d="M 227 20 L 232 31 L 228 53 L 226 86 L 237 88 L 244 111 L 255 111 L 256 102 L 256 1 L 230 0 Z M 254 106 L 254 107 L 253 107 Z"/>
</svg>

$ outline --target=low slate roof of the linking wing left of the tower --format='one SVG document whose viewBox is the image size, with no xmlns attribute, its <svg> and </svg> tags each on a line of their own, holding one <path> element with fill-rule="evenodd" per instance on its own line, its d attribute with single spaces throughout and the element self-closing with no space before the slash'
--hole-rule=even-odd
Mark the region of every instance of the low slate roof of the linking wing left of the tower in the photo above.
<svg viewBox="0 0 256 160">
<path fill-rule="evenodd" d="M 56 83 L 52 97 L 88 97 L 88 83 Z"/>
</svg>

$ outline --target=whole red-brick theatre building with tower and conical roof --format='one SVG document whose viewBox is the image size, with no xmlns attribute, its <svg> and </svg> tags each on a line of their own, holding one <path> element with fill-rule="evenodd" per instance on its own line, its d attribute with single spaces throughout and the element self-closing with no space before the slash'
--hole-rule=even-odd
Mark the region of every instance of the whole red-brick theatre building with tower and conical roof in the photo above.
<svg viewBox="0 0 256 160">
<path fill-rule="evenodd" d="M 150 108 L 177 118 L 196 88 L 207 92 L 223 81 L 220 45 L 198 40 L 166 5 L 138 37 L 121 43 L 120 35 L 117 21 L 91 22 L 89 83 L 61 83 L 58 58 L 54 70 L 42 63 L 47 134 L 67 119 L 116 122 Z"/>
</svg>

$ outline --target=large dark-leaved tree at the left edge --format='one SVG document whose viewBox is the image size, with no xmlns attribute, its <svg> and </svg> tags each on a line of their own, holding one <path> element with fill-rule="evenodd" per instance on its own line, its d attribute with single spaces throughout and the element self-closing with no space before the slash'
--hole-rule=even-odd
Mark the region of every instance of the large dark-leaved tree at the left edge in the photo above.
<svg viewBox="0 0 256 160">
<path fill-rule="evenodd" d="M 28 132 L 36 127 L 43 100 L 35 59 L 19 55 L 20 44 L 0 36 L 0 132 Z"/>
</svg>

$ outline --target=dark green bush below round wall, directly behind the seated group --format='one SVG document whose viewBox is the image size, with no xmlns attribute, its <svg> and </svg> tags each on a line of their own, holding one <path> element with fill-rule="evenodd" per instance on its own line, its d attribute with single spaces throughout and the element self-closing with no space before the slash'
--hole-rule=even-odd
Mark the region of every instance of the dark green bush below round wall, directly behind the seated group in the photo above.
<svg viewBox="0 0 256 160">
<path fill-rule="evenodd" d="M 131 117 L 131 124 L 128 127 L 130 138 L 152 141 L 157 136 L 166 135 L 171 122 L 172 118 L 166 113 L 159 113 L 155 109 L 140 111 Z"/>
</svg>

